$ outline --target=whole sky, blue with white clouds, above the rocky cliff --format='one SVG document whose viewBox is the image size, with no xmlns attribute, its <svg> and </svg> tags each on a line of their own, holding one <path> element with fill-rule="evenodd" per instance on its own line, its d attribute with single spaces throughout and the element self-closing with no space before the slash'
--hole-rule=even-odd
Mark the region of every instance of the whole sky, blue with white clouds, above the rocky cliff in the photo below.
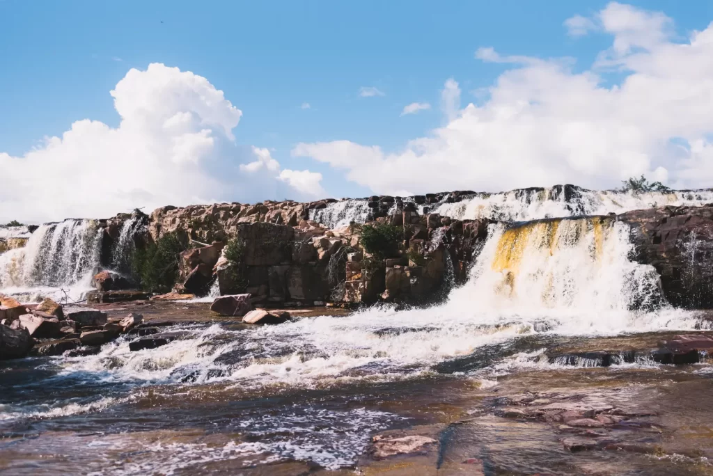
<svg viewBox="0 0 713 476">
<path fill-rule="evenodd" d="M 713 2 L 0 0 L 0 222 L 713 187 Z"/>
</svg>

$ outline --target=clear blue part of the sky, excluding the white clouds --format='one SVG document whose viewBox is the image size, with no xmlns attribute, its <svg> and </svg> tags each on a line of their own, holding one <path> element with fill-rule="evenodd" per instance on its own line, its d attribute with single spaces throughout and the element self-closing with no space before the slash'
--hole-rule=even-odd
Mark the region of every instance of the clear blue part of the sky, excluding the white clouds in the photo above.
<svg viewBox="0 0 713 476">
<path fill-rule="evenodd" d="M 670 17 L 673 42 L 706 29 L 713 19 L 709 1 L 629 4 Z M 283 168 L 322 173 L 329 195 L 370 195 L 374 187 L 364 180 L 345 179 L 333 163 L 291 150 L 299 143 L 335 140 L 403 150 L 409 140 L 448 123 L 438 106 L 448 78 L 458 81 L 464 107 L 482 102 L 473 91 L 493 86 L 513 68 L 476 60 L 481 47 L 501 55 L 573 57 L 574 73 L 588 70 L 610 48 L 612 35 L 568 36 L 563 22 L 575 14 L 595 16 L 605 6 L 65 0 L 39 8 L 32 1 L 0 0 L 0 152 L 21 157 L 43 137 L 61 136 L 83 118 L 117 127 L 109 91 L 130 68 L 163 63 L 207 78 L 242 110 L 233 130 L 239 145 L 270 149 Z M 617 83 L 625 74 L 601 73 L 602 83 Z M 361 87 L 384 95 L 361 97 Z M 432 107 L 401 116 L 414 102 Z M 310 107 L 303 109 L 303 103 Z"/>
</svg>

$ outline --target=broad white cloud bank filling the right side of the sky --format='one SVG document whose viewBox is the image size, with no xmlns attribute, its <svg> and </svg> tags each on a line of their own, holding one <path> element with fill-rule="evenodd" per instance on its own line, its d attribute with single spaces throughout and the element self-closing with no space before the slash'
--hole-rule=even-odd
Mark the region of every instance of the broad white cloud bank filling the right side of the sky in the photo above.
<svg viewBox="0 0 713 476">
<path fill-rule="evenodd" d="M 458 83 L 446 81 L 448 124 L 426 137 L 396 151 L 339 140 L 301 143 L 292 154 L 338 167 L 376 193 L 606 188 L 641 174 L 674 187 L 712 186 L 713 24 L 674 41 L 667 16 L 617 3 L 590 21 L 612 43 L 584 71 L 573 71 L 570 58 L 481 48 L 476 58 L 506 71 L 482 103 L 464 108 Z"/>
</svg>

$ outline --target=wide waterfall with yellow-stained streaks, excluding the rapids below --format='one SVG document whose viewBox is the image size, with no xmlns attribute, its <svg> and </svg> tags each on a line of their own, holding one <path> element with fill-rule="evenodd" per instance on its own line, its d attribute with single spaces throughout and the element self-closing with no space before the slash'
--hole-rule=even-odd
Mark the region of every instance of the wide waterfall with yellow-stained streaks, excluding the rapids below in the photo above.
<svg viewBox="0 0 713 476">
<path fill-rule="evenodd" d="M 481 306 L 514 312 L 654 309 L 660 278 L 629 259 L 629 233 L 612 217 L 493 225 L 466 288 Z"/>
</svg>

